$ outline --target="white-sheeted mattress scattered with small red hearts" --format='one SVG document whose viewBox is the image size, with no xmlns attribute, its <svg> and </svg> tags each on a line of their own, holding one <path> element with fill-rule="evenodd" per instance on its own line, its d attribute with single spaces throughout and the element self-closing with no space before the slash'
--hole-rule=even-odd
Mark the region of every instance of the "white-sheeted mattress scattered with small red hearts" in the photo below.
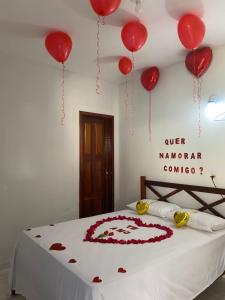
<svg viewBox="0 0 225 300">
<path fill-rule="evenodd" d="M 130 210 L 107 214 L 118 215 L 137 217 Z M 173 236 L 143 245 L 84 242 L 89 226 L 105 216 L 24 231 L 15 249 L 11 288 L 27 300 L 189 300 L 225 270 L 225 230 L 176 229 L 170 221 L 146 215 L 140 217 L 143 222 L 166 225 Z M 66 249 L 50 251 L 56 242 Z M 71 258 L 77 262 L 69 264 Z M 119 267 L 126 273 L 118 273 Z M 92 282 L 96 276 L 101 283 Z"/>
</svg>

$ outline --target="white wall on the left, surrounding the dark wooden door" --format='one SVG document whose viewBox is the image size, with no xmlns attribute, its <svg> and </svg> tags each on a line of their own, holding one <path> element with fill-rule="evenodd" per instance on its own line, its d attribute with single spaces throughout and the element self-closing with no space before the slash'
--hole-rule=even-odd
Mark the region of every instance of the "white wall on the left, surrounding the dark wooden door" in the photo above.
<svg viewBox="0 0 225 300">
<path fill-rule="evenodd" d="M 79 111 L 115 116 L 115 201 L 119 197 L 118 87 L 66 72 L 65 127 L 60 127 L 61 72 L 34 62 L 0 58 L 0 265 L 19 232 L 77 218 Z"/>
</svg>

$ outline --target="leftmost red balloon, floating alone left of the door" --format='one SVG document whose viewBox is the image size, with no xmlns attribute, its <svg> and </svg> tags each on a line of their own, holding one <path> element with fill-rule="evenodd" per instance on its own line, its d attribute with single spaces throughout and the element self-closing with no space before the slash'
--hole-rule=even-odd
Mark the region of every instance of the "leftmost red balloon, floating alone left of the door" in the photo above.
<svg viewBox="0 0 225 300">
<path fill-rule="evenodd" d="M 73 42 L 70 36 L 61 31 L 50 33 L 45 39 L 49 54 L 59 63 L 64 63 L 70 55 Z"/>
</svg>

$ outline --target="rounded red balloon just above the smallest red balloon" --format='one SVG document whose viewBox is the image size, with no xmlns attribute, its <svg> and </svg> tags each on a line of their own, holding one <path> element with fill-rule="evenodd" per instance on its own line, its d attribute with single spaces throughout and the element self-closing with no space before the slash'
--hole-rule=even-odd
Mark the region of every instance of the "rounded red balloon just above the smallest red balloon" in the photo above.
<svg viewBox="0 0 225 300">
<path fill-rule="evenodd" d="M 146 27 L 140 22 L 130 22 L 124 25 L 121 38 L 124 46 L 131 52 L 140 50 L 148 37 Z"/>
</svg>

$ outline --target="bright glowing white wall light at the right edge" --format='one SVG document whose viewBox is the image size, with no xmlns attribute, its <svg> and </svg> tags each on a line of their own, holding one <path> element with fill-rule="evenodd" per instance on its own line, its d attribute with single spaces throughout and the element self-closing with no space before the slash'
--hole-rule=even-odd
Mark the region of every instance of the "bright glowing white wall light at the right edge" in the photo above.
<svg viewBox="0 0 225 300">
<path fill-rule="evenodd" d="M 218 96 L 211 96 L 205 114 L 211 121 L 225 121 L 225 102 L 222 102 Z"/>
</svg>

